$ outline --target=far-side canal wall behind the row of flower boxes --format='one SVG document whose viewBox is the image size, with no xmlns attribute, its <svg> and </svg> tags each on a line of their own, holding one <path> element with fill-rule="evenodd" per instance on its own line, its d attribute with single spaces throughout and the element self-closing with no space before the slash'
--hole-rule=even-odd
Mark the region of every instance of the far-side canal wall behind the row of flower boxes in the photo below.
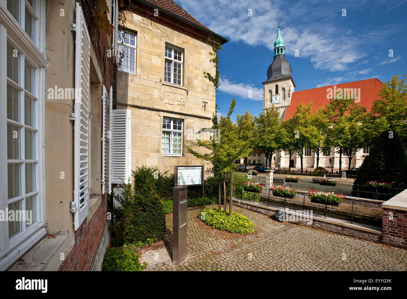
<svg viewBox="0 0 407 299">
<path fill-rule="evenodd" d="M 272 192 L 270 191 L 270 194 Z M 268 190 L 263 189 L 263 192 L 260 194 L 260 196 L 267 200 L 268 199 Z M 304 203 L 304 195 L 305 195 L 305 203 Z M 273 201 L 278 201 L 278 202 L 283 202 L 284 199 L 282 197 L 276 197 L 276 196 L 270 196 L 270 199 Z M 385 201 L 383 200 L 377 200 L 377 199 L 364 199 L 364 198 L 357 198 L 357 197 L 352 197 L 352 196 L 346 196 L 344 201 L 339 205 L 339 207 L 336 206 L 330 206 L 328 205 L 328 209 L 332 211 L 337 211 L 337 212 L 343 212 L 343 213 L 352 213 L 352 200 L 353 200 L 353 214 L 359 215 L 359 216 L 368 216 L 369 218 L 374 218 L 374 219 L 381 219 L 382 218 L 382 213 L 383 213 L 383 208 L 382 208 L 382 203 Z M 318 208 L 320 210 L 325 209 L 325 205 L 319 204 L 319 203 L 311 203 L 311 200 L 308 198 L 308 192 L 306 191 L 297 191 L 297 196 L 294 196 L 293 199 L 288 199 L 288 203 L 293 203 L 296 205 L 305 205 L 305 207 L 311 207 L 311 208 Z"/>
</svg>

